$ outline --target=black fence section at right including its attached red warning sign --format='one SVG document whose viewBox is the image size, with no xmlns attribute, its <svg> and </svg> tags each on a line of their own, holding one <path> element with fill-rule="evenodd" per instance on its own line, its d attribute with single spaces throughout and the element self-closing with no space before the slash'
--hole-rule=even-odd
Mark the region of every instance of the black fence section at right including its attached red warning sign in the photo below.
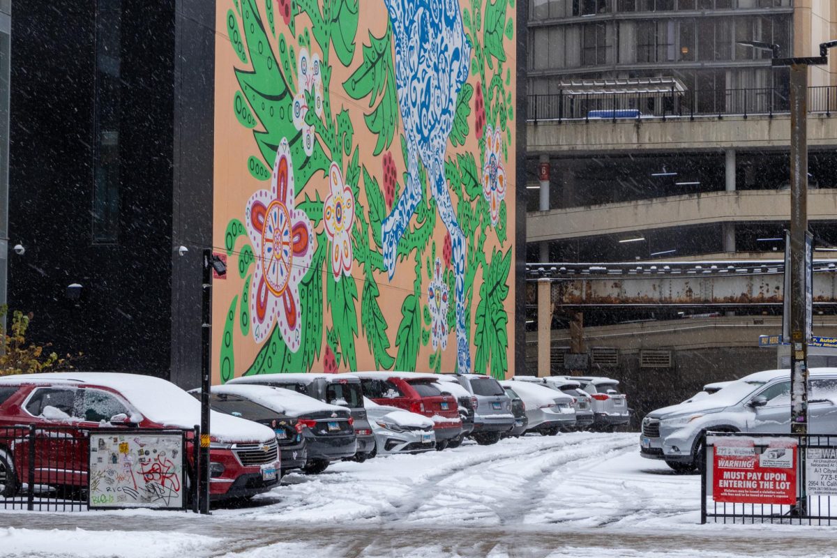
<svg viewBox="0 0 837 558">
<path fill-rule="evenodd" d="M 701 524 L 837 525 L 837 435 L 701 435 Z"/>
</svg>

